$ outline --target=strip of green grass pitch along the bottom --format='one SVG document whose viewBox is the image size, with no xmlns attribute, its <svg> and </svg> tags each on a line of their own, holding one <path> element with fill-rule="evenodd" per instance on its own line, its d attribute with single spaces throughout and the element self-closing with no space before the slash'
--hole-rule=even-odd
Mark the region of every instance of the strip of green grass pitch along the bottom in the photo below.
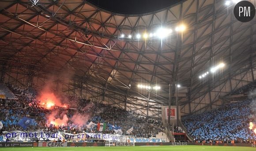
<svg viewBox="0 0 256 151">
<path fill-rule="evenodd" d="M 4 147 L 0 151 L 256 151 L 231 146 L 136 146 L 136 147 Z"/>
</svg>

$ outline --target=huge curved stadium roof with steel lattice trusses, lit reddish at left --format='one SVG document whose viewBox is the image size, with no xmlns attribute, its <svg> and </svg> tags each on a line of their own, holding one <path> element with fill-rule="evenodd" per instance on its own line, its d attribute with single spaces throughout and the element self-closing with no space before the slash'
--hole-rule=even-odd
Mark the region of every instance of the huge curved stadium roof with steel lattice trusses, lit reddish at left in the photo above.
<svg viewBox="0 0 256 151">
<path fill-rule="evenodd" d="M 224 0 L 183 0 L 125 15 L 86 0 L 3 0 L 1 77 L 27 86 L 52 79 L 55 90 L 155 118 L 168 105 L 169 84 L 179 83 L 188 88 L 179 97 L 182 115 L 211 110 L 222 104 L 219 96 L 254 81 L 255 18 L 239 22 L 233 7 Z M 181 24 L 185 31 L 176 32 Z M 163 39 L 136 37 L 160 27 L 173 32 Z M 219 63 L 222 70 L 199 78 Z"/>
</svg>

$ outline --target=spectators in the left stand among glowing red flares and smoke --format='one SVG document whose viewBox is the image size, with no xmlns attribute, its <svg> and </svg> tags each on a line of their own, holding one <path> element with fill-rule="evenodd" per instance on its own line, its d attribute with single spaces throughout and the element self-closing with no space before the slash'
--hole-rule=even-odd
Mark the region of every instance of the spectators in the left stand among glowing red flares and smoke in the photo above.
<svg viewBox="0 0 256 151">
<path fill-rule="evenodd" d="M 94 122 L 95 124 L 107 123 L 119 127 L 122 130 L 122 135 L 134 135 L 137 137 L 151 137 L 162 131 L 162 123 L 160 121 L 149 119 L 136 114 L 132 111 L 126 111 L 119 107 L 109 106 L 100 103 L 98 100 L 79 98 L 77 96 L 64 95 L 66 100 L 73 102 L 72 107 L 54 107 L 47 109 L 40 105 L 40 100 L 37 99 L 38 92 L 34 89 L 7 85 L 18 100 L 0 99 L 0 120 L 6 130 L 48 130 L 48 131 L 65 131 L 67 133 L 92 132 L 97 133 L 97 125 L 88 129 L 87 124 Z M 74 103 L 75 102 L 75 103 Z M 58 111 L 56 118 L 62 113 L 65 113 L 69 119 L 74 114 L 81 114 L 88 117 L 87 122 L 83 125 L 72 124 L 68 120 L 68 125 L 65 126 L 50 126 L 47 115 L 53 111 Z M 34 123 L 27 129 L 19 126 L 18 122 L 23 117 L 34 119 Z M 130 134 L 126 134 L 128 129 L 133 128 Z M 115 133 L 111 127 L 107 127 L 102 133 Z"/>
</svg>

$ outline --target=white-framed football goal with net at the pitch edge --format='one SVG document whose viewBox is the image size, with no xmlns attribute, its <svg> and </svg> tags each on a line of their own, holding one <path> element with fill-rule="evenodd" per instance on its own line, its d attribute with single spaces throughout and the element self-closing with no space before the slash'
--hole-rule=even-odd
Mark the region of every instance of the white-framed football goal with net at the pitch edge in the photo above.
<svg viewBox="0 0 256 151">
<path fill-rule="evenodd" d="M 135 146 L 134 136 L 118 136 L 118 140 L 106 140 L 105 146 Z"/>
</svg>

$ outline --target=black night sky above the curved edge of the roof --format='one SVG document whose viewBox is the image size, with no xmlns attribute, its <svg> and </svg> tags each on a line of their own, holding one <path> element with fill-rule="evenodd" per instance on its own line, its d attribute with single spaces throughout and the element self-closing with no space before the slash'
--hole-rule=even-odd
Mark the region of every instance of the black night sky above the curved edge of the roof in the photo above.
<svg viewBox="0 0 256 151">
<path fill-rule="evenodd" d="M 87 0 L 107 11 L 136 15 L 158 11 L 182 0 Z"/>
</svg>

